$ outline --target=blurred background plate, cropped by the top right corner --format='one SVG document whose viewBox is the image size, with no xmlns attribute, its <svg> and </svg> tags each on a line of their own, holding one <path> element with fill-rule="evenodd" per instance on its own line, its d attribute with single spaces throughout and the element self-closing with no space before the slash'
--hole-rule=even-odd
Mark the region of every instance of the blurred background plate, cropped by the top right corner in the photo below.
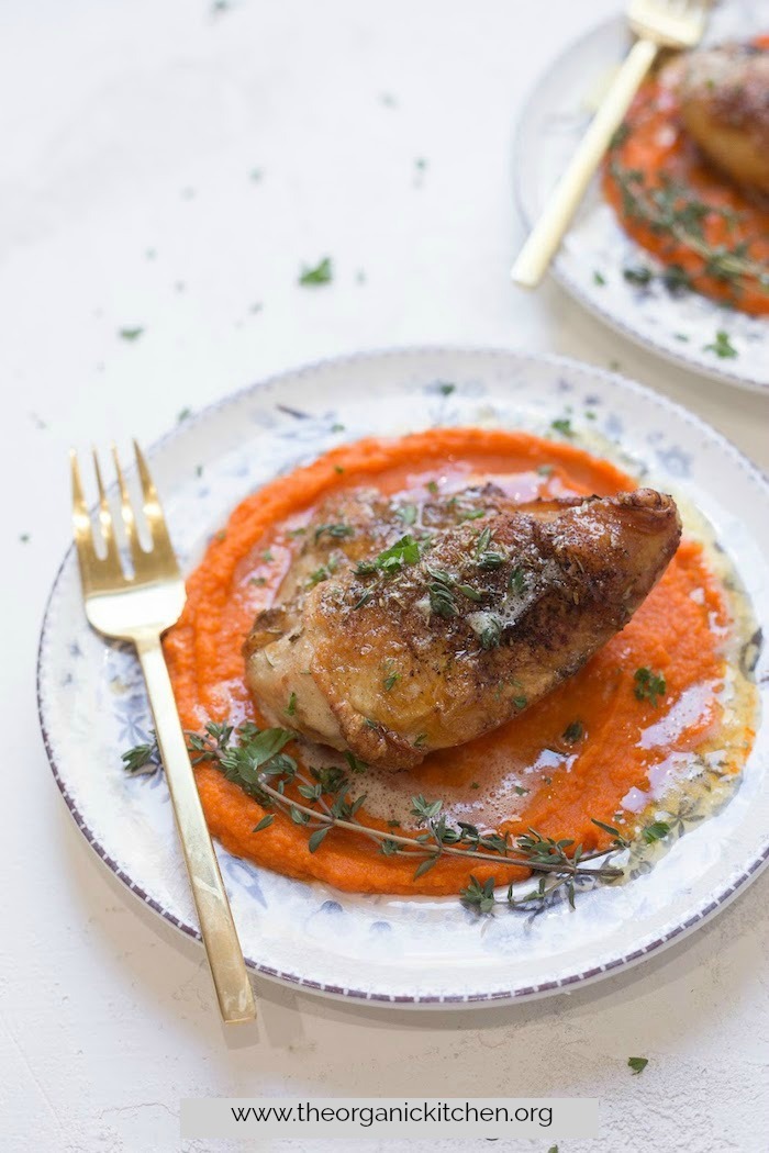
<svg viewBox="0 0 769 1153">
<path fill-rule="evenodd" d="M 718 5 L 707 43 L 763 31 L 766 6 L 757 0 Z M 514 151 L 515 195 L 527 228 L 585 133 L 596 92 L 629 43 L 623 17 L 603 23 L 570 45 L 531 91 Z M 748 316 L 661 276 L 664 266 L 624 232 L 597 178 L 551 267 L 576 300 L 646 348 L 729 384 L 769 391 L 769 317 Z"/>
</svg>

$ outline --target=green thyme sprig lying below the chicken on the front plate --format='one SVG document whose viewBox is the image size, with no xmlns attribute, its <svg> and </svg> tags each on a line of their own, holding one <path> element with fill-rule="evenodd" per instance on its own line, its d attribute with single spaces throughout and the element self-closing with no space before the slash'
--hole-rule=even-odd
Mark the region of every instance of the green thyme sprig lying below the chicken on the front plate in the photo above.
<svg viewBox="0 0 769 1153">
<path fill-rule="evenodd" d="M 345 829 L 376 843 L 385 857 L 413 858 L 415 880 L 445 857 L 480 860 L 505 868 L 523 867 L 541 874 L 536 889 L 523 898 L 515 896 L 511 883 L 504 902 L 495 897 L 496 879 L 481 883 L 472 877 L 467 888 L 460 890 L 460 898 L 480 912 L 490 911 L 492 898 L 493 904 L 510 906 L 542 905 L 561 888 L 573 904 L 575 882 L 606 882 L 623 875 L 621 868 L 605 864 L 590 867 L 588 864 L 604 860 L 629 844 L 617 829 L 600 821 L 595 823 L 612 837 L 611 847 L 589 852 L 582 845 L 574 846 L 573 841 L 545 837 L 535 829 L 514 837 L 510 832 L 483 832 L 465 821 L 451 824 L 443 813 L 443 801 L 428 800 L 421 794 L 412 798 L 412 815 L 419 832 L 394 832 L 392 827 L 383 830 L 364 824 L 357 814 L 365 802 L 365 793 L 353 794 L 350 778 L 340 766 L 301 769 L 294 758 L 284 752 L 294 736 L 287 729 L 259 729 L 250 722 L 236 728 L 210 722 L 203 733 L 186 732 L 193 764 L 211 764 L 263 808 L 282 812 L 295 824 L 304 827 L 310 852 L 317 851 L 331 829 Z M 123 753 L 127 771 L 140 773 L 148 764 L 159 764 L 154 733 L 151 737 L 151 741 Z M 272 821 L 266 817 L 272 815 L 266 813 L 254 832 L 269 828 Z"/>
</svg>

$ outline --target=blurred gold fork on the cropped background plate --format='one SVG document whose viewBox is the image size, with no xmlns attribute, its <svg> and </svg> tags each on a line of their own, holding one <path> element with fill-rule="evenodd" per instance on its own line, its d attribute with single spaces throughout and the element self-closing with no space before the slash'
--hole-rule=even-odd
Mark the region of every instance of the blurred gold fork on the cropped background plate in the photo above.
<svg viewBox="0 0 769 1153">
<path fill-rule="evenodd" d="M 708 3 L 709 0 L 631 0 L 627 22 L 638 39 L 519 253 L 511 272 L 515 284 L 523 288 L 536 288 L 540 284 L 659 50 L 693 48 L 699 44 Z"/>
</svg>

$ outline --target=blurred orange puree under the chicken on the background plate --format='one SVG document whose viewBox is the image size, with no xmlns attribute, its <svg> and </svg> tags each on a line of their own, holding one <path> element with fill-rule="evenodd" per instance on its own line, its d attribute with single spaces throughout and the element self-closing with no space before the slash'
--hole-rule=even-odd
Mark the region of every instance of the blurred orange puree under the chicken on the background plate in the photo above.
<svg viewBox="0 0 769 1153">
<path fill-rule="evenodd" d="M 769 45 L 769 37 L 756 40 Z M 674 68 L 676 65 L 671 66 Z M 668 282 L 686 286 L 753 316 L 769 314 L 769 288 L 756 274 L 717 273 L 707 255 L 681 241 L 680 228 L 696 233 L 714 254 L 732 254 L 769 276 L 769 211 L 713 167 L 687 134 L 674 83 L 663 69 L 641 85 L 610 149 L 603 190 L 624 229 L 677 273 Z M 676 229 L 655 226 L 634 197 L 674 187 Z M 631 197 L 628 198 L 627 191 Z M 683 210 L 683 211 L 681 211 Z"/>
</svg>

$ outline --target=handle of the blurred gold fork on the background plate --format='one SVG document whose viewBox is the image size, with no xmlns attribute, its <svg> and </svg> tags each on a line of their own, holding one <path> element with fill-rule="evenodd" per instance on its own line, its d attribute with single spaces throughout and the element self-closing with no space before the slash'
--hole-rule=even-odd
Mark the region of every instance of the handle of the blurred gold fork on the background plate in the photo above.
<svg viewBox="0 0 769 1153">
<path fill-rule="evenodd" d="M 623 122 L 657 52 L 658 46 L 651 40 L 639 39 L 625 58 L 513 265 L 511 277 L 515 284 L 536 288 L 548 271 L 611 137 Z"/>
</svg>

